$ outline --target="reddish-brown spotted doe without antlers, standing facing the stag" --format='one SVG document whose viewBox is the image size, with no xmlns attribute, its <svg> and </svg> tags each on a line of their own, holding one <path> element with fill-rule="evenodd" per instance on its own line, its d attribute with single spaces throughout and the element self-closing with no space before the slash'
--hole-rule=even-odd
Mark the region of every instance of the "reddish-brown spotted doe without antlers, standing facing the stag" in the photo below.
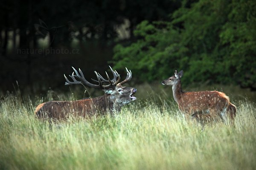
<svg viewBox="0 0 256 170">
<path fill-rule="evenodd" d="M 227 121 L 227 115 L 231 119 L 236 116 L 236 106 L 230 103 L 229 97 L 219 91 L 198 91 L 183 92 L 180 78 L 183 71 L 179 73 L 175 69 L 175 75 L 162 81 L 163 85 L 172 85 L 172 91 L 179 110 L 186 119 L 214 119 L 221 118 L 223 122 Z"/>
</svg>

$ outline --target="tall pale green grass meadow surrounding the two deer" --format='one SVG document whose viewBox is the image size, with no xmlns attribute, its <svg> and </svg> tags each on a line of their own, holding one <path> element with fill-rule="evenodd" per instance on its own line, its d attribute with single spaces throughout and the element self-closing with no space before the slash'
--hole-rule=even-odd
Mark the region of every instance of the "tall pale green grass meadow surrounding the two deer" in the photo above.
<svg viewBox="0 0 256 170">
<path fill-rule="evenodd" d="M 237 106 L 234 126 L 217 122 L 201 130 L 201 124 L 184 121 L 171 88 L 156 93 L 149 86 L 141 92 L 143 88 L 137 89 L 137 101 L 120 113 L 73 118 L 52 129 L 48 122 L 35 119 L 41 97 L 30 99 L 18 91 L 4 95 L 0 102 L 0 169 L 256 168 L 256 104 L 245 98 L 244 91 L 223 89 Z M 52 100 L 52 93 L 44 102 Z M 59 98 L 74 98 L 70 96 Z"/>
</svg>

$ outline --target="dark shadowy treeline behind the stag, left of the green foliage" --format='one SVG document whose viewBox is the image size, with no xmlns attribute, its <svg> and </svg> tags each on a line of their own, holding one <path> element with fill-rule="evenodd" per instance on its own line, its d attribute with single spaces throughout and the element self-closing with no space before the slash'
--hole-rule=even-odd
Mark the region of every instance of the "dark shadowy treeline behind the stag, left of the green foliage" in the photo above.
<svg viewBox="0 0 256 170">
<path fill-rule="evenodd" d="M 16 80 L 33 91 L 58 88 L 71 66 L 88 77 L 103 72 L 116 42 L 133 40 L 142 20 L 167 20 L 179 6 L 176 0 L 3 0 L 1 91 L 12 90 Z"/>
</svg>

